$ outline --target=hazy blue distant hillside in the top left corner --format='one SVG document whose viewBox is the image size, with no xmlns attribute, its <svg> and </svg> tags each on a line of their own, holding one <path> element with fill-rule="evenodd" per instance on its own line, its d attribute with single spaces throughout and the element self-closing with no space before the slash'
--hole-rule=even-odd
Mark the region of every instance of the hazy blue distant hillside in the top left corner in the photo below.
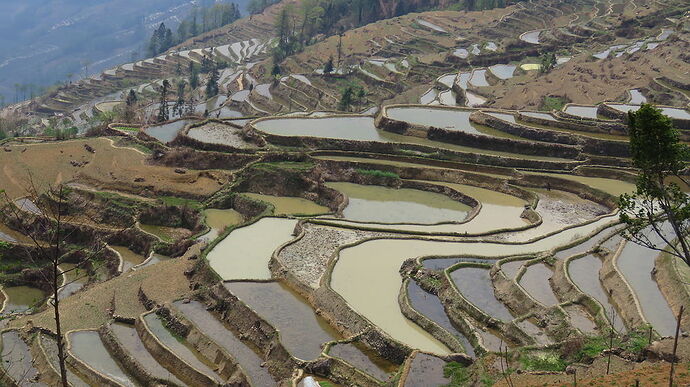
<svg viewBox="0 0 690 387">
<path fill-rule="evenodd" d="M 161 22 L 174 27 L 200 0 L 23 0 L 0 2 L 0 95 L 76 80 L 144 56 Z M 239 3 L 244 3 L 243 1 Z M 243 6 L 243 4 L 238 4 Z M 85 66 L 88 64 L 88 66 Z M 34 85 L 20 88 L 15 85 Z"/>
</svg>

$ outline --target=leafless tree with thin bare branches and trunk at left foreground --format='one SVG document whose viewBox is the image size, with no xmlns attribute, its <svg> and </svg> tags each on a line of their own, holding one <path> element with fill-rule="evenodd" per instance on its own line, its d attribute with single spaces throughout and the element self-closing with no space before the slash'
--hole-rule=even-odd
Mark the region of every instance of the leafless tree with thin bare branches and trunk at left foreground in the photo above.
<svg viewBox="0 0 690 387">
<path fill-rule="evenodd" d="M 29 187 L 26 189 L 27 195 L 21 200 L 12 200 L 4 191 L 0 193 L 3 198 L 0 202 L 0 219 L 16 227 L 28 238 L 29 242 L 23 245 L 25 255 L 31 263 L 40 267 L 38 275 L 45 288 L 49 289 L 47 300 L 42 300 L 40 304 L 49 301 L 48 304 L 53 309 L 60 378 L 62 385 L 68 386 L 60 291 L 82 279 L 68 281 L 68 273 L 84 269 L 89 264 L 93 266 L 95 258 L 107 248 L 107 240 L 132 227 L 133 222 L 124 227 L 108 228 L 103 232 L 94 231 L 88 245 L 83 242 L 72 243 L 77 237 L 79 226 L 94 226 L 89 224 L 84 215 L 90 208 L 91 200 L 74 194 L 74 191 L 64 184 L 39 190 L 33 179 L 30 179 Z M 80 257 L 79 263 L 71 269 L 62 270 L 60 264 L 68 254 Z"/>
</svg>

